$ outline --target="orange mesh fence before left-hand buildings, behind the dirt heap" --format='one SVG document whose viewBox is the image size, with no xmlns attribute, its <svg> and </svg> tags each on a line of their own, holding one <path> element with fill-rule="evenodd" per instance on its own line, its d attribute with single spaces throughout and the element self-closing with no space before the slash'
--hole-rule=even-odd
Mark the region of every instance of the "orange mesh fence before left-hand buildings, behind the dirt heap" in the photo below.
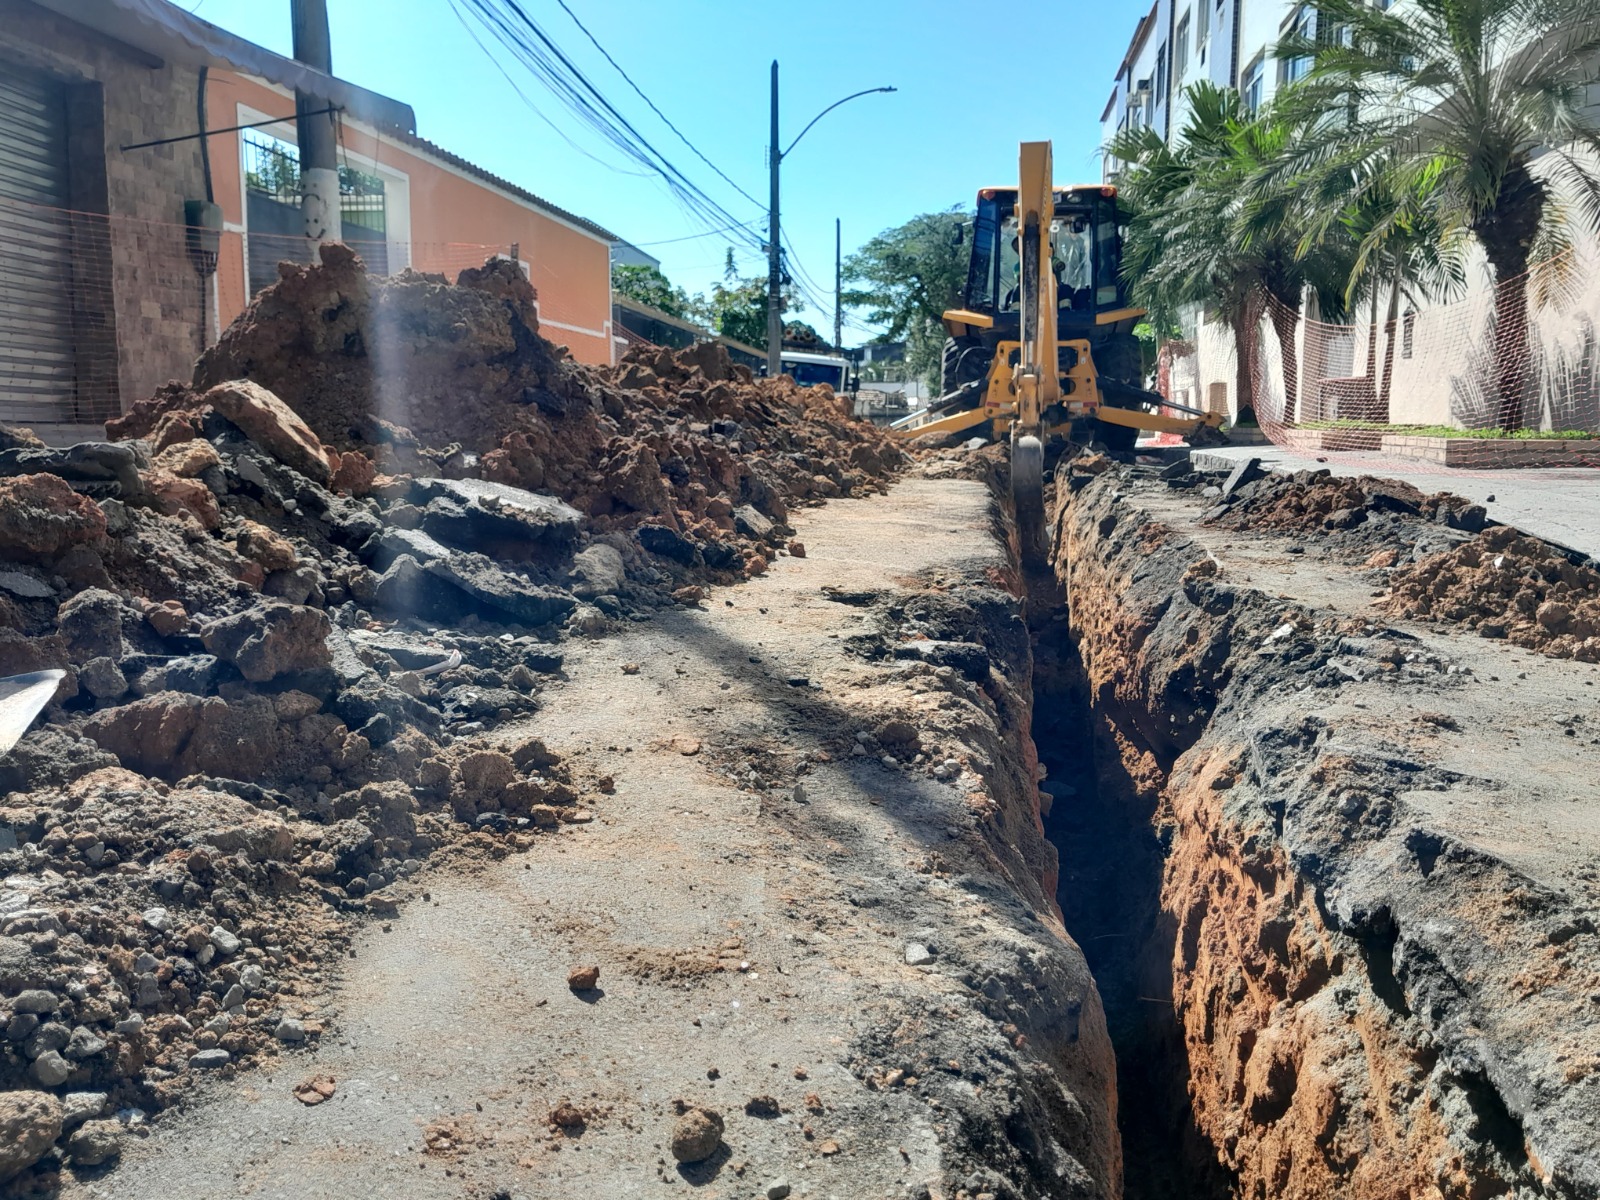
<svg viewBox="0 0 1600 1200">
<path fill-rule="evenodd" d="M 414 267 L 454 280 L 512 253 L 379 238 L 350 238 L 373 274 Z M 181 224 L 0 200 L 0 422 L 90 435 L 168 379 L 189 379 L 278 262 L 310 261 L 314 250 L 301 237 L 237 230 L 208 245 Z M 571 304 L 536 254 L 522 261 L 546 336 L 584 362 L 611 362 L 610 312 Z"/>
</svg>

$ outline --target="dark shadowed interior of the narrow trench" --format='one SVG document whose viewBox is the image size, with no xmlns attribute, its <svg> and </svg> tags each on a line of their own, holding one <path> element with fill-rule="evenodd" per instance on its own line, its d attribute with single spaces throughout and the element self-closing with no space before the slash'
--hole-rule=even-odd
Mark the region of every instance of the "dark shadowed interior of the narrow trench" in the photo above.
<svg viewBox="0 0 1600 1200">
<path fill-rule="evenodd" d="M 1171 1006 L 1176 931 L 1162 912 L 1155 790 L 1144 794 L 1098 730 L 1054 581 L 1030 589 L 1034 742 L 1051 797 L 1045 835 L 1061 856 L 1056 902 L 1083 949 L 1117 1053 L 1126 1200 L 1226 1200 L 1230 1179 L 1194 1126 L 1187 1054 Z"/>
</svg>

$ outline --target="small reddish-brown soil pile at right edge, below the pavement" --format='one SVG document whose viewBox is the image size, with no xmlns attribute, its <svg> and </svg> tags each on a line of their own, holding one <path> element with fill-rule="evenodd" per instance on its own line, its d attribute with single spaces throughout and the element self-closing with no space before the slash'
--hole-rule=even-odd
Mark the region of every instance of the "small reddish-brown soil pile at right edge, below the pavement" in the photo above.
<svg viewBox="0 0 1600 1200">
<path fill-rule="evenodd" d="M 1510 526 L 1390 576 L 1394 616 L 1450 621 L 1552 658 L 1600 662 L 1600 571 Z"/>
</svg>

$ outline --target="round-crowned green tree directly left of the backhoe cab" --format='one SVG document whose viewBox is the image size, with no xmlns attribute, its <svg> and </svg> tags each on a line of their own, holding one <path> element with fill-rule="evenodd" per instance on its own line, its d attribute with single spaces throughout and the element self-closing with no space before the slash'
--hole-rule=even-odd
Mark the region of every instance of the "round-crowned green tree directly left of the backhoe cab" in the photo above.
<svg viewBox="0 0 1600 1200">
<path fill-rule="evenodd" d="M 963 208 L 923 213 L 845 259 L 845 280 L 858 286 L 843 293 L 843 302 L 867 309 L 867 320 L 883 326 L 880 341 L 904 341 L 906 376 L 934 389 L 944 312 L 958 306 L 966 283 L 966 246 L 957 237 L 970 221 Z"/>
</svg>

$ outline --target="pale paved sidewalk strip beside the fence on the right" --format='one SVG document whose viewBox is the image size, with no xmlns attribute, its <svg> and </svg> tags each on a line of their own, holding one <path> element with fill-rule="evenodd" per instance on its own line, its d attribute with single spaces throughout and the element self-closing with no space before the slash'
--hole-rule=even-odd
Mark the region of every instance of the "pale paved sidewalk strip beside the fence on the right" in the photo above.
<svg viewBox="0 0 1600 1200">
<path fill-rule="evenodd" d="M 1275 470 L 1326 467 L 1334 475 L 1384 475 L 1405 480 L 1422 491 L 1454 491 L 1483 504 L 1493 520 L 1600 558 L 1597 469 L 1459 470 L 1384 454 L 1296 454 L 1274 445 L 1197 450 L 1192 461 L 1197 467 L 1232 467 L 1246 458 L 1259 458 L 1264 467 Z"/>
</svg>

